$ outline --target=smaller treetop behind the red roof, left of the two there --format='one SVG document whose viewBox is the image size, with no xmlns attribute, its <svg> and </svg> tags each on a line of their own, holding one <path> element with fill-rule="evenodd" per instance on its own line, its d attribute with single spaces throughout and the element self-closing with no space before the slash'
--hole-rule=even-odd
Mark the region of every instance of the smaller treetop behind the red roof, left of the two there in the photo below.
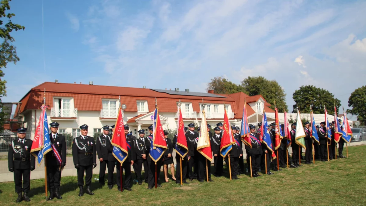
<svg viewBox="0 0 366 206">
<path fill-rule="evenodd" d="M 236 92 L 244 92 L 244 88 L 240 85 L 234 84 L 233 82 L 222 78 L 222 77 L 214 77 L 207 84 L 206 90 L 209 91 L 213 89 L 217 94 L 232 94 Z"/>
</svg>

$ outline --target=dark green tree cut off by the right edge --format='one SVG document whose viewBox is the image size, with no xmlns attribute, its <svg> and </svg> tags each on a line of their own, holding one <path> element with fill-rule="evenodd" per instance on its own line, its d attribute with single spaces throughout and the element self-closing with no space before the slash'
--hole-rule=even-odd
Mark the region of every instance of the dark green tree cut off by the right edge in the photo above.
<svg viewBox="0 0 366 206">
<path fill-rule="evenodd" d="M 350 98 L 348 99 L 348 107 L 352 107 L 352 109 L 348 109 L 347 113 L 352 115 L 357 115 L 357 120 L 366 124 L 366 86 L 362 86 L 358 89 L 355 89 L 351 93 Z"/>
</svg>

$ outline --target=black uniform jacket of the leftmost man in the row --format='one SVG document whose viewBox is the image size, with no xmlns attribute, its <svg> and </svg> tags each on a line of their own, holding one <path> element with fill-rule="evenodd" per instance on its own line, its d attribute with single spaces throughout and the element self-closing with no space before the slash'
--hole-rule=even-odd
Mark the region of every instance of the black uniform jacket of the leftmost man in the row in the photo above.
<svg viewBox="0 0 366 206">
<path fill-rule="evenodd" d="M 19 139 L 11 141 L 8 151 L 8 168 L 14 169 L 30 169 L 36 166 L 36 158 L 30 154 L 32 140 L 24 139 L 24 143 L 20 143 Z"/>
</svg>

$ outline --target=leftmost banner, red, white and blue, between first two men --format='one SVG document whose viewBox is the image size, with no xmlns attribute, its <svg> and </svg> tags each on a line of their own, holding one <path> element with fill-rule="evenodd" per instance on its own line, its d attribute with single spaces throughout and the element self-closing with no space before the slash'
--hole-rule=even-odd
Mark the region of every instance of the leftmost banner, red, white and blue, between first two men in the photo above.
<svg viewBox="0 0 366 206">
<path fill-rule="evenodd" d="M 31 154 L 37 158 L 38 167 L 41 165 L 43 157 L 52 150 L 51 141 L 48 133 L 48 120 L 46 113 L 47 106 L 41 106 L 40 121 L 38 121 L 36 134 L 33 138 L 33 144 L 30 149 Z"/>
</svg>

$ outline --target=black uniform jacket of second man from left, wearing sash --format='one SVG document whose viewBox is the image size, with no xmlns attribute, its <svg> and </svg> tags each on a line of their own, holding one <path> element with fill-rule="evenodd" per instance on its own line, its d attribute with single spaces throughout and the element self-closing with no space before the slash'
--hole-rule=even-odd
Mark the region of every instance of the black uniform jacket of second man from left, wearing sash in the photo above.
<svg viewBox="0 0 366 206">
<path fill-rule="evenodd" d="M 56 150 L 59 152 L 61 157 L 61 162 L 66 164 L 66 141 L 65 137 L 59 133 L 56 133 L 56 139 L 53 140 L 53 134 L 50 133 L 49 137 L 51 139 L 51 143 L 56 147 Z M 47 165 L 50 166 L 60 166 L 60 162 L 56 159 L 55 153 L 53 151 L 49 151 L 46 154 Z"/>
</svg>

